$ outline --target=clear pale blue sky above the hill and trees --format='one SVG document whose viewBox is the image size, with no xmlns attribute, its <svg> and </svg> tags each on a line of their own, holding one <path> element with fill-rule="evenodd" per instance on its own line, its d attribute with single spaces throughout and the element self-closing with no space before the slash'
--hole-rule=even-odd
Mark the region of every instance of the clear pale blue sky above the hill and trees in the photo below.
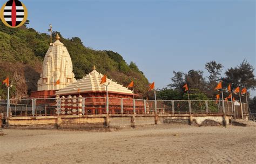
<svg viewBox="0 0 256 164">
<path fill-rule="evenodd" d="M 31 28 L 46 33 L 51 23 L 65 38 L 118 52 L 157 88 L 171 83 L 173 71 L 200 69 L 207 76 L 211 60 L 224 65 L 223 75 L 244 59 L 256 65 L 255 1 L 21 2 Z"/>
</svg>

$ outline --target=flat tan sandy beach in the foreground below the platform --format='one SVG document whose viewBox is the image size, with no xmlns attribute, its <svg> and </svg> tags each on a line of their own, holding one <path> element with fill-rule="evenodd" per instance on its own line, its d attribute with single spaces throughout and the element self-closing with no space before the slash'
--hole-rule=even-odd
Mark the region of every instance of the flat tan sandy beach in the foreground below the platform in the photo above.
<svg viewBox="0 0 256 164">
<path fill-rule="evenodd" d="M 0 163 L 254 163 L 256 127 L 157 125 L 114 132 L 3 129 Z"/>
</svg>

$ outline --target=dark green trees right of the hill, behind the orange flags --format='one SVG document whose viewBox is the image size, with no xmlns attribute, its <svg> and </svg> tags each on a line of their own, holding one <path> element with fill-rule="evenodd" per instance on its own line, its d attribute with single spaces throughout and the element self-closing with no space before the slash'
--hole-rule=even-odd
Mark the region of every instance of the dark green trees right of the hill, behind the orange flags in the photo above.
<svg viewBox="0 0 256 164">
<path fill-rule="evenodd" d="M 189 88 L 190 99 L 215 99 L 215 95 L 218 91 L 214 88 L 223 80 L 223 87 L 227 87 L 228 84 L 232 84 L 232 87 L 246 87 L 248 90 L 254 90 L 256 86 L 254 67 L 243 60 L 239 66 L 231 67 L 225 72 L 225 77 L 221 78 L 221 71 L 223 69 L 221 63 L 216 61 L 209 61 L 205 64 L 205 69 L 210 74 L 206 80 L 204 78 L 204 72 L 202 70 L 190 70 L 187 73 L 181 71 L 173 71 L 173 77 L 171 83 L 167 87 L 158 90 L 158 98 L 160 99 L 188 99 L 188 95 L 184 92 L 183 85 L 187 83 Z M 224 97 L 227 97 L 229 93 L 224 92 Z M 233 95 L 235 97 L 236 95 Z M 242 98 L 245 101 L 245 98 Z"/>
</svg>

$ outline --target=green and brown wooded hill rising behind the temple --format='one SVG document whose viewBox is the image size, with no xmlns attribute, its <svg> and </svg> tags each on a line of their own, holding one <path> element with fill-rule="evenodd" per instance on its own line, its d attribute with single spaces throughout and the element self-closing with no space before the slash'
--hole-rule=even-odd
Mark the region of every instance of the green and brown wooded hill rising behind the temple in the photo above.
<svg viewBox="0 0 256 164">
<path fill-rule="evenodd" d="M 137 94 L 145 97 L 149 81 L 133 62 L 127 64 L 123 57 L 113 51 L 97 51 L 84 46 L 78 37 L 63 38 L 60 32 L 53 32 L 53 38 L 59 33 L 61 42 L 67 47 L 76 79 L 80 79 L 97 67 L 97 71 L 119 84 L 127 86 L 134 80 Z M 54 40 L 54 39 L 53 39 Z M 49 47 L 50 36 L 39 33 L 26 25 L 11 29 L 0 22 L 0 79 L 9 76 L 12 98 L 28 97 L 37 90 L 37 80 L 42 72 L 43 58 Z M 97 61 L 97 62 L 96 62 Z M 0 96 L 6 98 L 6 87 L 1 85 Z"/>
</svg>

